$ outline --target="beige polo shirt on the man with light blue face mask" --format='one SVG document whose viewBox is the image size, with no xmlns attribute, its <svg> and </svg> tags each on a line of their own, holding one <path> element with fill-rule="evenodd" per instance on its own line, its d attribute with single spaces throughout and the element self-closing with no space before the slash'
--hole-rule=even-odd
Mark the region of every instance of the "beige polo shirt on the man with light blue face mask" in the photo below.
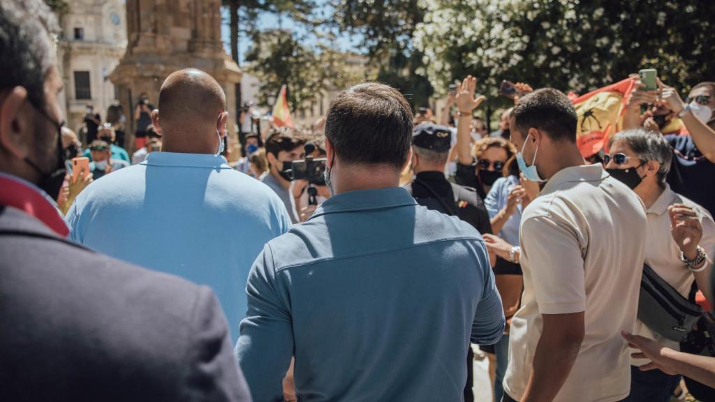
<svg viewBox="0 0 715 402">
<path fill-rule="evenodd" d="M 646 249 L 646 210 L 601 165 L 569 167 L 546 183 L 521 219 L 522 307 L 511 322 L 506 393 L 526 391 L 542 314 L 585 311 L 586 335 L 554 401 L 628 396 L 631 371 L 621 330 L 636 323 Z"/>
</svg>

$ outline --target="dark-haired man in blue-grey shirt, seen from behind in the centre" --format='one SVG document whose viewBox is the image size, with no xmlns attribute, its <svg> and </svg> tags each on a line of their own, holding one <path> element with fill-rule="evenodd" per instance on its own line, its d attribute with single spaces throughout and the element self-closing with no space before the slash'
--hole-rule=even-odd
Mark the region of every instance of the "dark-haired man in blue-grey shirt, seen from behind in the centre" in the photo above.
<svg viewBox="0 0 715 402">
<path fill-rule="evenodd" d="M 236 353 L 256 401 L 461 401 L 465 345 L 504 315 L 479 233 L 399 186 L 413 114 L 400 93 L 341 92 L 325 125 L 334 197 L 268 242 L 248 278 Z"/>
</svg>

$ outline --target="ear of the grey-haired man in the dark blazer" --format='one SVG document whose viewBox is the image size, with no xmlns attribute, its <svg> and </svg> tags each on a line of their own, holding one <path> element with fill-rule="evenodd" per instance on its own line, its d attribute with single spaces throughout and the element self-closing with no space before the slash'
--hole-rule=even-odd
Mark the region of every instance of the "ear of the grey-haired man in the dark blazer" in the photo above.
<svg viewBox="0 0 715 402">
<path fill-rule="evenodd" d="M 27 99 L 24 87 L 14 87 L 0 104 L 0 147 L 11 155 L 23 159 L 29 155 L 27 139 L 31 132 L 31 119 L 22 115 L 22 105 Z"/>
</svg>

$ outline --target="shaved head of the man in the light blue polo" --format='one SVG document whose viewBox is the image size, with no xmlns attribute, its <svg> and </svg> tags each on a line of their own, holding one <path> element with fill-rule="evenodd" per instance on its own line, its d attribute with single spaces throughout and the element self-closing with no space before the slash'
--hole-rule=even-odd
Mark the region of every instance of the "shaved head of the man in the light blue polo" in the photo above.
<svg viewBox="0 0 715 402">
<path fill-rule="evenodd" d="M 199 69 L 173 72 L 159 92 L 154 126 L 164 134 L 164 148 L 202 153 L 217 149 L 216 132 L 225 134 L 226 95 L 220 84 Z M 194 150 L 195 149 L 195 150 Z"/>
</svg>

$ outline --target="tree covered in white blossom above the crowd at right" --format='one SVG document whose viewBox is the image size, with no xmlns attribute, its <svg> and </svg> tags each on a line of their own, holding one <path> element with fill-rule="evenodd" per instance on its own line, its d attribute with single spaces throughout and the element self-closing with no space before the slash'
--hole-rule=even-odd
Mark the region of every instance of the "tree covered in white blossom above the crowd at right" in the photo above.
<svg viewBox="0 0 715 402">
<path fill-rule="evenodd" d="M 584 93 L 641 68 L 682 89 L 715 81 L 715 1 L 423 0 L 413 41 L 438 94 L 473 74 Z"/>
</svg>

